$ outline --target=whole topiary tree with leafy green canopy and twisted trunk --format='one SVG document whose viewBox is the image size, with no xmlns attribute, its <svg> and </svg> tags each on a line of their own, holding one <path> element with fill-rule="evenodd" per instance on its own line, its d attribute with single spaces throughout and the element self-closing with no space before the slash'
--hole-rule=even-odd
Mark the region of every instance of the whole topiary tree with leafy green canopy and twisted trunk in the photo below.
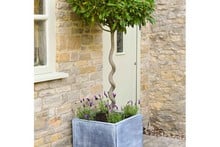
<svg viewBox="0 0 220 147">
<path fill-rule="evenodd" d="M 112 105 L 115 105 L 113 74 L 116 68 L 112 60 L 115 46 L 114 34 L 116 31 L 126 33 L 126 28 L 129 26 L 145 25 L 146 22 L 154 23 L 152 16 L 155 9 L 154 0 L 67 0 L 67 2 L 71 5 L 72 11 L 86 24 L 97 24 L 111 33 L 109 62 L 112 70 L 109 74 L 111 84 L 109 97 Z M 104 29 L 103 26 L 109 29 Z"/>
</svg>

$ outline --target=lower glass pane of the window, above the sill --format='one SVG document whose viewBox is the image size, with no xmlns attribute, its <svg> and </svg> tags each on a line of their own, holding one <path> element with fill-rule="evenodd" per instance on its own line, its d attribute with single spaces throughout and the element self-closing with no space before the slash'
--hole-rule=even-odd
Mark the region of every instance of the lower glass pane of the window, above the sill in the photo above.
<svg viewBox="0 0 220 147">
<path fill-rule="evenodd" d="M 34 21 L 34 65 L 46 65 L 45 21 Z"/>
</svg>

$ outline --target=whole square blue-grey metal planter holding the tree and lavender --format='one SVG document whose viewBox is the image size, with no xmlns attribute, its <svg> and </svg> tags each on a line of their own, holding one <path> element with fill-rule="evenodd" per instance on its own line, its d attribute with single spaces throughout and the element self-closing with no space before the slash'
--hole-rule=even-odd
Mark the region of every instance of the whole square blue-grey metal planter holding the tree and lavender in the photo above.
<svg viewBox="0 0 220 147">
<path fill-rule="evenodd" d="M 115 124 L 78 118 L 72 122 L 73 147 L 143 147 L 141 114 Z"/>
</svg>

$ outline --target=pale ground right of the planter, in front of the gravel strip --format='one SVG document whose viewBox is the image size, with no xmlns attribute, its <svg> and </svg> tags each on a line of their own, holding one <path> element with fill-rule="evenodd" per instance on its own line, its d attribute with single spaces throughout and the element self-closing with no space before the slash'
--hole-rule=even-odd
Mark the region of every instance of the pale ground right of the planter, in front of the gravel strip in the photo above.
<svg viewBox="0 0 220 147">
<path fill-rule="evenodd" d="M 144 135 L 144 147 L 185 147 L 185 140 Z"/>
</svg>

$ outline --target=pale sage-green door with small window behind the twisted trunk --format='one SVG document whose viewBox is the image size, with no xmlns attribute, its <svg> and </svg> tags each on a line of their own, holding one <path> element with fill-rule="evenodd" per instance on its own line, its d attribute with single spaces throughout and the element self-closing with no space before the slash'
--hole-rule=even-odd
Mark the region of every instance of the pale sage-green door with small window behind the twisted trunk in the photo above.
<svg viewBox="0 0 220 147">
<path fill-rule="evenodd" d="M 126 34 L 115 33 L 113 60 L 116 64 L 116 72 L 113 79 L 116 83 L 116 104 L 119 107 L 124 106 L 129 100 L 135 102 L 137 97 L 137 30 L 137 27 L 129 27 Z M 110 33 L 103 32 L 103 89 L 105 91 L 110 88 L 108 82 L 111 69 L 108 62 L 109 50 Z"/>
</svg>

